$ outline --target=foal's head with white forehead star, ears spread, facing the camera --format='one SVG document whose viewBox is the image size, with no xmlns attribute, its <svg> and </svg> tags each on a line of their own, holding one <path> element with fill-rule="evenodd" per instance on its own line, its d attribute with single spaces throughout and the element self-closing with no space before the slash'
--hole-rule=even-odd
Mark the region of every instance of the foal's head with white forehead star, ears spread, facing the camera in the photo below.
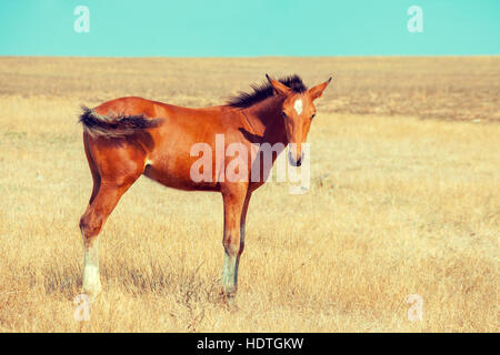
<svg viewBox="0 0 500 355">
<path fill-rule="evenodd" d="M 296 144 L 296 149 L 290 150 L 288 158 L 292 165 L 300 166 L 303 158 L 302 143 L 308 138 L 309 128 L 316 115 L 313 101 L 321 97 L 331 78 L 309 90 L 298 91 L 269 78 L 269 75 L 266 77 L 274 89 L 274 93 L 284 99 L 281 115 L 284 120 L 287 139 L 289 143 Z"/>
</svg>

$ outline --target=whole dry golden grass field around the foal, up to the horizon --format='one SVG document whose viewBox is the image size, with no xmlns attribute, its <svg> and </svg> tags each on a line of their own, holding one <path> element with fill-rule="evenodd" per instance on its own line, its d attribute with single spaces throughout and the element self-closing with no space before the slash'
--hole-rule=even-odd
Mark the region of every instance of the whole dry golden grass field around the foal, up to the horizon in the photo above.
<svg viewBox="0 0 500 355">
<path fill-rule="evenodd" d="M 236 305 L 218 296 L 220 195 L 141 178 L 100 235 L 103 293 L 77 322 L 79 105 L 218 104 L 266 72 L 334 80 L 310 191 L 253 194 Z M 498 57 L 0 58 L 0 332 L 498 332 L 499 97 Z"/>
</svg>

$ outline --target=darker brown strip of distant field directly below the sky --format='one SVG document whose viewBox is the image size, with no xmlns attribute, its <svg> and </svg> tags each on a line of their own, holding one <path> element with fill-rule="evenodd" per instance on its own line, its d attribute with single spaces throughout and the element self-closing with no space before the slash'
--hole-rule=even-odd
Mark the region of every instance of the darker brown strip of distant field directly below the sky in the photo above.
<svg viewBox="0 0 500 355">
<path fill-rule="evenodd" d="M 98 103 L 140 95 L 181 105 L 223 102 L 264 73 L 333 75 L 322 111 L 500 121 L 500 57 L 86 59 L 0 58 L 0 95 Z"/>
</svg>

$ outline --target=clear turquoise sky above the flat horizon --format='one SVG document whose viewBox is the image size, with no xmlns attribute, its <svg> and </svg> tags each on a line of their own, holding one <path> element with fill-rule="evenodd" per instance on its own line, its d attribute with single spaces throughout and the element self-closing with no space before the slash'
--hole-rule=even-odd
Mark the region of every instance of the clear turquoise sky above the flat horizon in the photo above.
<svg viewBox="0 0 500 355">
<path fill-rule="evenodd" d="M 0 55 L 397 54 L 500 54 L 500 0 L 0 0 Z"/>
</svg>

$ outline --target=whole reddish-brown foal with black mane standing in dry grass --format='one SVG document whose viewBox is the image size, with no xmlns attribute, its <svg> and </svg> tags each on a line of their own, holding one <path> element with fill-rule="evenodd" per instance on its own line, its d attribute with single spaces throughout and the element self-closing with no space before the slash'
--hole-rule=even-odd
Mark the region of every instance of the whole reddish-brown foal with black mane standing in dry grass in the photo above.
<svg viewBox="0 0 500 355">
<path fill-rule="evenodd" d="M 282 146 L 293 143 L 296 150 L 290 150 L 289 161 L 299 166 L 303 158 L 301 144 L 316 114 L 313 101 L 331 81 L 330 78 L 308 90 L 298 75 L 278 81 L 266 77 L 266 84 L 252 85 L 251 93 L 241 93 L 220 106 L 188 109 L 141 98 L 121 98 L 92 110 L 83 108 L 80 122 L 93 179 L 89 205 L 80 220 L 84 293 L 93 298 L 101 291 L 98 234 L 121 195 L 143 174 L 169 187 L 222 194 L 222 293 L 236 294 L 247 210 L 252 192 L 267 179 L 264 162 L 256 156 L 244 159 L 244 179 L 233 181 L 224 179 L 231 160 L 221 161 L 210 154 L 209 164 L 203 166 L 206 179 L 193 179 L 198 156 L 192 155 L 192 146 L 202 143 L 214 151 L 216 135 L 220 134 L 224 139 L 224 152 L 233 143 L 247 151 L 252 151 L 253 143 L 281 143 Z M 271 165 L 279 153 L 272 155 Z M 258 181 L 250 179 L 256 169 L 259 169 Z"/>
</svg>

